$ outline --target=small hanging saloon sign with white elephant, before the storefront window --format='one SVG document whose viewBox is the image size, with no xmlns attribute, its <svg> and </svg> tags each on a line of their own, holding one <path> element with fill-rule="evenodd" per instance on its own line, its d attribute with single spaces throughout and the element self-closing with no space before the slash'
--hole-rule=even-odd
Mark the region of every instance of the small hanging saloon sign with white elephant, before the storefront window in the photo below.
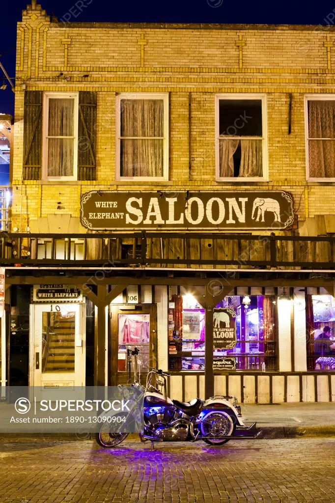
<svg viewBox="0 0 335 503">
<path fill-rule="evenodd" d="M 232 349 L 236 346 L 236 313 L 231 307 L 215 307 L 213 310 L 213 346 Z"/>
</svg>

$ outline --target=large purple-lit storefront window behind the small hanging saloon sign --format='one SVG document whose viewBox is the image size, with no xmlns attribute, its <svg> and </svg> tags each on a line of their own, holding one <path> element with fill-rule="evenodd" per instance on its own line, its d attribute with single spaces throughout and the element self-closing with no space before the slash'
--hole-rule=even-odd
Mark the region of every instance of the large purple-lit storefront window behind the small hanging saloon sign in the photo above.
<svg viewBox="0 0 335 503">
<path fill-rule="evenodd" d="M 214 348 L 214 360 L 234 359 L 236 370 L 276 370 L 275 297 L 252 295 L 246 301 L 243 296 L 228 296 L 217 307 L 235 311 L 237 343 L 230 350 Z M 170 370 L 204 370 L 205 309 L 191 295 L 173 295 L 168 323 Z"/>
</svg>

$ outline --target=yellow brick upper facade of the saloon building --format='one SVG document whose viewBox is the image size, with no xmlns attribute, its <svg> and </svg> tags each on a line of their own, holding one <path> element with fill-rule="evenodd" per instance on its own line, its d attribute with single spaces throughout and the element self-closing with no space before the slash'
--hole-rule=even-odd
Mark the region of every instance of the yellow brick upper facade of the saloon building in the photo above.
<svg viewBox="0 0 335 503">
<path fill-rule="evenodd" d="M 306 181 L 304 124 L 304 95 L 334 92 L 334 40 L 334 29 L 314 26 L 56 23 L 33 2 L 18 23 L 12 228 L 49 214 L 78 217 L 80 194 L 92 189 L 139 187 L 284 188 L 300 225 L 335 215 L 334 184 Z M 22 181 L 24 89 L 98 93 L 95 182 Z M 116 94 L 141 91 L 170 95 L 169 182 L 115 180 Z M 266 93 L 268 182 L 216 182 L 217 93 Z"/>
</svg>

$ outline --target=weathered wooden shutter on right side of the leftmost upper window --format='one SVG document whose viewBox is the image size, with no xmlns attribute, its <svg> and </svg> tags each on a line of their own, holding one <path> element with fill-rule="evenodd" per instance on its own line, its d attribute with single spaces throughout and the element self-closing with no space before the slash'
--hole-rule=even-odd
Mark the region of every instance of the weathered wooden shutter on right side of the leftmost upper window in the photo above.
<svg viewBox="0 0 335 503">
<path fill-rule="evenodd" d="M 79 91 L 78 180 L 96 179 L 97 93 Z"/>
</svg>

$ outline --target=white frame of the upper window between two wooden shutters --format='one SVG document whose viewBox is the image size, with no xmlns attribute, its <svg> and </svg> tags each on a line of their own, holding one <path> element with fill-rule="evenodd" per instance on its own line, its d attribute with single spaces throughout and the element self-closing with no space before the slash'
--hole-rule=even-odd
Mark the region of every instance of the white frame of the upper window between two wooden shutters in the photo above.
<svg viewBox="0 0 335 503">
<path fill-rule="evenodd" d="M 49 128 L 49 99 L 74 99 L 73 118 L 73 175 L 70 177 L 48 176 L 48 128 Z M 78 107 L 79 93 L 47 92 L 43 96 L 43 155 L 42 155 L 42 180 L 77 180 L 78 175 Z M 65 136 L 63 137 L 65 138 Z"/>
</svg>

